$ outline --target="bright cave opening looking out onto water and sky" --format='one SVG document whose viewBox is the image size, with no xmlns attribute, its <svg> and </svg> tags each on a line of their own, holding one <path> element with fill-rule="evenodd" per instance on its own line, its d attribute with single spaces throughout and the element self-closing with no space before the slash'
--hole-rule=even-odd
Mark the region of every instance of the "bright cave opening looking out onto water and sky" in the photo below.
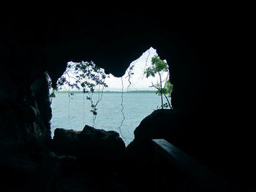
<svg viewBox="0 0 256 192">
<path fill-rule="evenodd" d="M 50 90 L 53 114 L 51 136 L 54 136 L 56 128 L 81 131 L 85 125 L 89 125 L 105 131 L 116 131 L 125 145 L 129 145 L 141 120 L 154 110 L 171 108 L 170 93 L 173 87 L 167 91 L 168 85 L 169 89 L 171 85 L 167 62 L 159 59 L 164 61 L 167 69 L 159 74 L 146 74 L 154 57 L 158 57 L 157 50 L 150 47 L 140 58 L 129 64 L 122 77 L 105 74 L 104 69 L 94 74 L 95 69 L 91 69 L 91 74 L 95 75 L 91 77 L 91 74 L 86 74 L 89 72 L 89 68 L 86 68 L 86 64 L 90 67 L 89 62 L 82 61 L 81 66 L 68 62 L 66 71 L 57 83 L 58 90 Z M 79 67 L 80 71 L 75 70 Z M 86 81 L 84 74 L 89 76 Z M 94 83 L 94 86 L 90 87 L 90 83 Z M 157 90 L 160 87 L 162 91 L 165 88 L 162 104 L 161 93 Z"/>
</svg>

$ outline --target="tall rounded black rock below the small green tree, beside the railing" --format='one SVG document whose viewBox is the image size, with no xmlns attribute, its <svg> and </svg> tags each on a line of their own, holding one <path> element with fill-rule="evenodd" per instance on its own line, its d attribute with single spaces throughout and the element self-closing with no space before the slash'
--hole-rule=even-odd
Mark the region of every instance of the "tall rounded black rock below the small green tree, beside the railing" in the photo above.
<svg viewBox="0 0 256 192">
<path fill-rule="evenodd" d="M 134 188 L 140 188 L 138 191 L 151 191 L 154 188 L 156 177 L 159 176 L 156 174 L 154 162 L 156 154 L 151 139 L 166 139 L 180 145 L 181 137 L 184 137 L 181 134 L 183 132 L 181 125 L 181 117 L 175 110 L 155 110 L 140 122 L 134 131 L 135 139 L 127 146 L 124 153 L 124 177 L 127 183 L 132 183 Z M 170 169 L 169 166 L 165 164 L 162 167 Z"/>
</svg>

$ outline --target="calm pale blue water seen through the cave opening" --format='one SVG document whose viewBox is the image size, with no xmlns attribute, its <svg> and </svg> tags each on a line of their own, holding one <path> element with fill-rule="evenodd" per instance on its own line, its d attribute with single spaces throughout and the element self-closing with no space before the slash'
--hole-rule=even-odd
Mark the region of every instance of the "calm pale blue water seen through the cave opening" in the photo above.
<svg viewBox="0 0 256 192">
<path fill-rule="evenodd" d="M 94 95 L 97 99 L 97 93 Z M 151 114 L 160 105 L 160 96 L 155 93 L 124 93 L 124 122 L 121 125 L 123 115 L 121 113 L 121 93 L 103 93 L 102 100 L 97 106 L 97 116 L 94 120 L 91 103 L 83 93 L 75 93 L 68 96 L 67 93 L 56 93 L 53 98 L 51 120 L 52 137 L 55 128 L 67 128 L 81 131 L 87 124 L 94 128 L 106 131 L 117 131 L 128 145 L 134 139 L 133 131 L 143 118 Z"/>
</svg>

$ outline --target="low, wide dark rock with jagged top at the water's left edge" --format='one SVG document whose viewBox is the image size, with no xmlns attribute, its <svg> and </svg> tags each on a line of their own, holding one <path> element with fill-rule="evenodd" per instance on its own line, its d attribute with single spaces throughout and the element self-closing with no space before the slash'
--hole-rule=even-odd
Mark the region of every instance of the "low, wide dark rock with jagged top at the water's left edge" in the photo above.
<svg viewBox="0 0 256 192">
<path fill-rule="evenodd" d="M 72 155 L 91 163 L 115 164 L 124 153 L 125 145 L 116 131 L 105 131 L 85 126 L 83 131 L 56 128 L 53 151 Z"/>
</svg>

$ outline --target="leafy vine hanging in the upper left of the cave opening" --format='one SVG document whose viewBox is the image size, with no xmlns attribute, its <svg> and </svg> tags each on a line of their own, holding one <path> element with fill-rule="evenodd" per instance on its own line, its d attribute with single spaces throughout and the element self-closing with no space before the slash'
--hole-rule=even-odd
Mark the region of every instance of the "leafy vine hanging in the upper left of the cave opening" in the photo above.
<svg viewBox="0 0 256 192">
<path fill-rule="evenodd" d="M 92 61 L 85 62 L 81 61 L 79 63 L 69 62 L 67 64 L 67 69 L 62 74 L 57 82 L 55 89 L 50 89 L 50 102 L 56 96 L 55 92 L 59 90 L 68 90 L 68 96 L 74 95 L 70 90 L 83 90 L 83 94 L 86 94 L 86 99 L 91 103 L 90 112 L 93 114 L 93 122 L 95 124 L 95 119 L 97 115 L 97 104 L 102 100 L 102 93 L 104 88 L 108 85 L 105 83 L 105 79 L 108 76 L 105 74 L 104 70 L 95 65 Z M 51 87 L 51 82 L 49 81 Z M 94 101 L 94 92 L 98 92 L 98 98 Z M 84 101 L 83 101 L 84 103 Z"/>
</svg>

